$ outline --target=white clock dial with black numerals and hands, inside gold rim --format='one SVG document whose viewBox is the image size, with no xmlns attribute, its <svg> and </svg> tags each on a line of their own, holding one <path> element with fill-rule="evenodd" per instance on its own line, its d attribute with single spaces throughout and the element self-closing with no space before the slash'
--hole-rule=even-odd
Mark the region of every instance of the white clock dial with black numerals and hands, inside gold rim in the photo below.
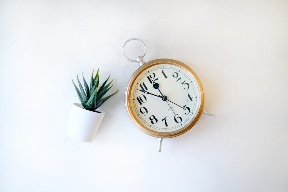
<svg viewBox="0 0 288 192">
<path fill-rule="evenodd" d="M 142 71 L 132 83 L 128 97 L 134 117 L 142 126 L 162 133 L 177 131 L 191 123 L 201 99 L 192 74 L 168 63 Z"/>
</svg>

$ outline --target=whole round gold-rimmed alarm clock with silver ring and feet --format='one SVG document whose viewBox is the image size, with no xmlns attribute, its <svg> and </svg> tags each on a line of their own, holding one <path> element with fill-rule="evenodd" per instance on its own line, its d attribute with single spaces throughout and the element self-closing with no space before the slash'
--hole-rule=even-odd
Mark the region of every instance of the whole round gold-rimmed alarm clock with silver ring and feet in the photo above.
<svg viewBox="0 0 288 192">
<path fill-rule="evenodd" d="M 128 41 L 137 40 L 144 54 L 131 60 L 124 54 Z M 129 118 L 142 132 L 159 138 L 179 136 L 187 132 L 203 113 L 204 91 L 196 73 L 186 64 L 172 59 L 143 61 L 146 47 L 140 39 L 124 43 L 123 55 L 137 61 L 140 67 L 130 77 L 125 91 L 125 107 Z M 214 117 L 206 111 L 204 113 Z"/>
</svg>

